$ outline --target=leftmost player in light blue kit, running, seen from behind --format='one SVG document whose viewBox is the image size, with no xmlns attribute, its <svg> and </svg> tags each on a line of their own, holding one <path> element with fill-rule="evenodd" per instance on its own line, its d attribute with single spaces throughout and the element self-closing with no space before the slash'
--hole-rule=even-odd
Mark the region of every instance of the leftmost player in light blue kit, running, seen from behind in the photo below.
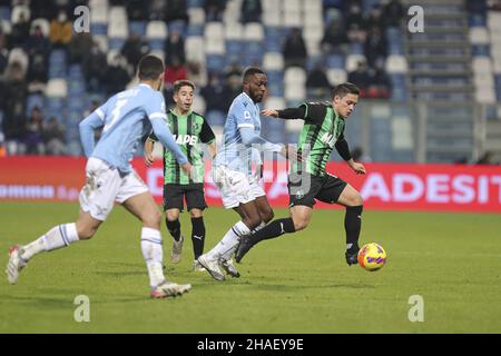
<svg viewBox="0 0 501 356">
<path fill-rule="evenodd" d="M 148 187 L 130 165 L 137 147 L 143 147 L 141 141 L 153 129 L 161 144 L 174 152 L 183 169 L 186 172 L 191 170 L 164 122 L 165 100 L 158 91 L 163 83 L 164 63 L 157 57 L 145 56 L 138 68 L 139 86 L 111 97 L 80 122 L 80 139 L 89 159 L 77 221 L 56 226 L 28 245 L 13 246 L 6 270 L 9 283 L 17 283 L 21 269 L 33 256 L 90 239 L 117 201 L 143 222 L 141 249 L 150 279 L 150 296 L 181 295 L 191 287 L 166 280 L 161 214 Z M 100 127 L 101 138 L 95 145 L 94 130 Z"/>
</svg>

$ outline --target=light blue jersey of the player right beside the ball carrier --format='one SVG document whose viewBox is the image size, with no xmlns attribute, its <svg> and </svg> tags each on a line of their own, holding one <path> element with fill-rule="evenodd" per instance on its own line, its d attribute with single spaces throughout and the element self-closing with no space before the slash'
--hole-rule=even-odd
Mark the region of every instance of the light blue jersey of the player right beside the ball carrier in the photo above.
<svg viewBox="0 0 501 356">
<path fill-rule="evenodd" d="M 224 146 L 215 158 L 215 166 L 226 166 L 232 170 L 252 175 L 252 148 L 279 151 L 261 137 L 259 106 L 243 92 L 229 107 L 224 128 Z"/>
</svg>

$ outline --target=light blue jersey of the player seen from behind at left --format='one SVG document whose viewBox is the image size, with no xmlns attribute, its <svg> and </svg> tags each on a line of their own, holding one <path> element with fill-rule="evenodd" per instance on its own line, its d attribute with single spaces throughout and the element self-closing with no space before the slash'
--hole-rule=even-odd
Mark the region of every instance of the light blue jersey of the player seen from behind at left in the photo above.
<svg viewBox="0 0 501 356">
<path fill-rule="evenodd" d="M 145 83 L 121 91 L 80 122 L 84 151 L 87 157 L 99 158 L 127 174 L 132 170 L 134 154 L 153 129 L 164 147 L 184 165 L 187 158 L 165 125 L 166 118 L 165 100 L 159 91 Z M 95 145 L 94 130 L 99 127 L 104 127 L 102 134 Z"/>
</svg>

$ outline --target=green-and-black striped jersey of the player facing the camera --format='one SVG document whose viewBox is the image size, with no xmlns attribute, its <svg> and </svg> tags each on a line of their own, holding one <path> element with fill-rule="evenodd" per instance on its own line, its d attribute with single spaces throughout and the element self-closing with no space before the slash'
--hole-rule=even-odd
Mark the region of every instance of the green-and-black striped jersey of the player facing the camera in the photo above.
<svg viewBox="0 0 501 356">
<path fill-rule="evenodd" d="M 199 144 L 212 144 L 215 140 L 210 126 L 202 115 L 194 111 L 180 116 L 174 110 L 167 112 L 166 123 L 169 126 L 176 142 L 191 164 L 195 177 L 191 179 L 185 174 L 174 155 L 164 148 L 164 184 L 189 185 L 204 182 L 204 151 Z M 155 134 L 151 134 L 148 139 L 158 141 Z"/>
</svg>

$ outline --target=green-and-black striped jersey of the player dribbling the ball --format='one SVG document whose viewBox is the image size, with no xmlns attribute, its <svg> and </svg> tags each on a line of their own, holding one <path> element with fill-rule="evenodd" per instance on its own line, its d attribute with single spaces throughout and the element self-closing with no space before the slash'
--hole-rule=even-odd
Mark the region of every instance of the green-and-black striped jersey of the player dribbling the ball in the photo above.
<svg viewBox="0 0 501 356">
<path fill-rule="evenodd" d="M 336 141 L 344 140 L 344 119 L 327 102 L 304 102 L 301 107 L 304 107 L 304 126 L 297 149 L 302 161 L 294 162 L 292 171 L 323 177 Z"/>
</svg>

